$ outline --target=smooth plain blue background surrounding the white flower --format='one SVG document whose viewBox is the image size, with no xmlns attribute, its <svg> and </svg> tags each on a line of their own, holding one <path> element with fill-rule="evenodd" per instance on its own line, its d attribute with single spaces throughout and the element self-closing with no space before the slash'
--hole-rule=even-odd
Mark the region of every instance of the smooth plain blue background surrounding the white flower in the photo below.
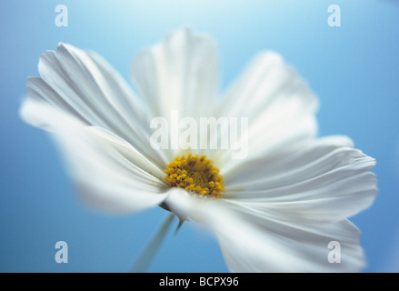
<svg viewBox="0 0 399 291">
<path fill-rule="evenodd" d="M 319 96 L 319 135 L 343 134 L 377 159 L 374 206 L 352 220 L 362 230 L 366 272 L 399 271 L 399 3 L 390 0 L 1 1 L 0 271 L 125 272 L 165 217 L 157 207 L 110 216 L 85 206 L 45 132 L 18 107 L 25 78 L 63 41 L 95 50 L 125 78 L 135 54 L 190 26 L 214 37 L 221 90 L 264 49 L 279 52 Z M 68 7 L 68 27 L 55 6 Z M 341 27 L 329 27 L 329 5 Z M 69 263 L 55 263 L 55 243 Z M 185 225 L 166 236 L 150 272 L 225 272 L 214 236 Z"/>
</svg>

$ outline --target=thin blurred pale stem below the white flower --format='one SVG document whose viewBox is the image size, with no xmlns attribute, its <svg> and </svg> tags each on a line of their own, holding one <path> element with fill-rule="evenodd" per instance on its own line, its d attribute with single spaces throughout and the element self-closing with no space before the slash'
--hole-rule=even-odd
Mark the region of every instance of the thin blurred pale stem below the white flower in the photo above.
<svg viewBox="0 0 399 291">
<path fill-rule="evenodd" d="M 150 265 L 151 260 L 154 258 L 156 251 L 161 245 L 169 226 L 172 225 L 174 217 L 175 214 L 173 213 L 166 217 L 164 224 L 158 229 L 156 235 L 153 237 L 148 246 L 146 246 L 145 251 L 135 262 L 135 265 L 131 269 L 132 273 L 145 272 L 145 269 Z"/>
</svg>

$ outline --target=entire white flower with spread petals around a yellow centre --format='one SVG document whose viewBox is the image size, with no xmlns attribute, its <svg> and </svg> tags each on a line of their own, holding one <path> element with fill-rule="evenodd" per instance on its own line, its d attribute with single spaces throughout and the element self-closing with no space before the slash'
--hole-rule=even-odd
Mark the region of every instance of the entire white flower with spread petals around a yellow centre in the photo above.
<svg viewBox="0 0 399 291">
<path fill-rule="evenodd" d="M 345 136 L 316 138 L 317 100 L 281 56 L 257 55 L 222 98 L 214 43 L 189 29 L 135 58 L 132 77 L 143 99 L 104 59 L 72 45 L 45 52 L 38 69 L 41 77 L 27 80 L 21 115 L 54 133 L 89 203 L 124 212 L 163 206 L 205 224 L 234 272 L 364 267 L 360 232 L 347 217 L 373 203 L 375 161 Z M 246 158 L 232 159 L 232 149 L 155 150 L 150 121 L 172 110 L 247 116 Z M 225 192 L 214 191 L 221 198 L 203 201 L 175 177 L 165 182 L 166 165 L 189 153 L 197 162 L 195 155 L 206 155 L 209 169 L 220 170 Z M 340 245 L 339 263 L 328 260 L 332 241 Z"/>
</svg>

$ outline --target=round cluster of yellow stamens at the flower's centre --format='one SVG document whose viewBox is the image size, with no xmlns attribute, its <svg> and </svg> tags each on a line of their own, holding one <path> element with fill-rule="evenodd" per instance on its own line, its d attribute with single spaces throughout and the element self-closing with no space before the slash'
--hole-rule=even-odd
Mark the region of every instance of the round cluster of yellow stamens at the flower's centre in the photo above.
<svg viewBox="0 0 399 291">
<path fill-rule="evenodd" d="M 172 187 L 184 188 L 203 199 L 222 198 L 224 179 L 212 160 L 206 156 L 176 156 L 166 165 L 165 181 Z"/>
</svg>

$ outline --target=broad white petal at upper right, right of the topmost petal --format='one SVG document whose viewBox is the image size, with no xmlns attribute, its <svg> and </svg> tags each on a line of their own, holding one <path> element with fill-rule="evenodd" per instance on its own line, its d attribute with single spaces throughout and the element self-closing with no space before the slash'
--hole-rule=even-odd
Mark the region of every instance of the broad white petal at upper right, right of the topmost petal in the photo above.
<svg viewBox="0 0 399 291">
<path fill-rule="evenodd" d="M 218 114 L 247 118 L 248 128 L 224 152 L 225 171 L 274 150 L 313 138 L 317 100 L 293 68 L 273 52 L 257 55 L 227 90 Z M 221 138 L 228 138 L 221 136 Z M 246 155 L 232 159 L 232 152 Z"/>
</svg>

